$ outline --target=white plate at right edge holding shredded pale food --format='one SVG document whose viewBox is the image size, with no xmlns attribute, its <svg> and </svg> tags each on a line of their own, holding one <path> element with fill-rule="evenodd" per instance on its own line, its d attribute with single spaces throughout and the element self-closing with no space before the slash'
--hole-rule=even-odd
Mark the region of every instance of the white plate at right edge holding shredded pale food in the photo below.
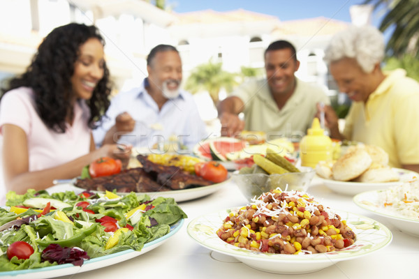
<svg viewBox="0 0 419 279">
<path fill-rule="evenodd" d="M 388 222 L 392 223 L 392 225 L 402 232 L 406 232 L 406 234 L 411 234 L 413 236 L 419 236 L 419 218 L 409 218 L 395 211 L 391 211 L 390 209 L 383 208 L 378 204 L 378 193 L 381 191 L 382 190 L 376 190 L 360 193 L 353 197 L 353 202 L 362 209 L 385 217 Z"/>
</svg>

